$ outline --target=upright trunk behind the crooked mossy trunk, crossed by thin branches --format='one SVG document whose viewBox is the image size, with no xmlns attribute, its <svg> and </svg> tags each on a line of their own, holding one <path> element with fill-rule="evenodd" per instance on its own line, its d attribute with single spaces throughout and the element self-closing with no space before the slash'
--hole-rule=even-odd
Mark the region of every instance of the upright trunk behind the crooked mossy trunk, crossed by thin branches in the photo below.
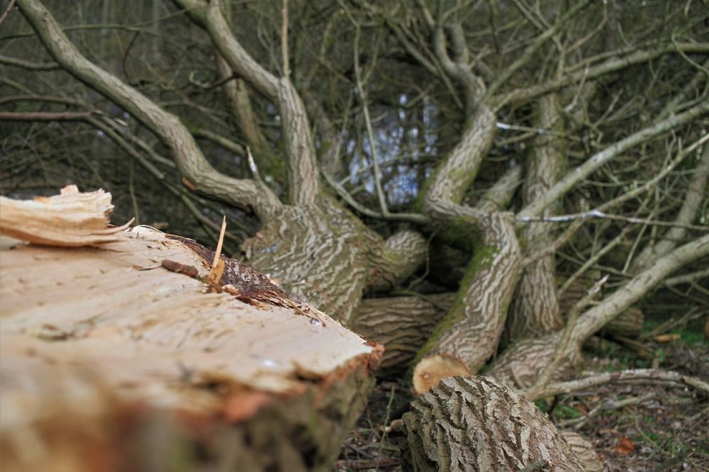
<svg viewBox="0 0 709 472">
<path fill-rule="evenodd" d="M 557 94 L 543 96 L 539 103 L 537 126 L 545 130 L 563 132 L 563 121 L 559 114 Z M 559 179 L 564 157 L 562 140 L 557 135 L 543 134 L 535 138 L 525 182 L 525 203 L 540 198 Z M 544 215 L 556 213 L 554 207 L 545 210 Z M 550 223 L 530 223 L 522 231 L 527 254 L 541 251 L 554 240 L 554 225 Z M 556 263 L 554 254 L 532 262 L 525 267 L 520 283 L 515 291 L 507 322 L 509 339 L 536 336 L 556 331 L 564 325 L 559 313 L 557 286 L 554 277 Z"/>
</svg>

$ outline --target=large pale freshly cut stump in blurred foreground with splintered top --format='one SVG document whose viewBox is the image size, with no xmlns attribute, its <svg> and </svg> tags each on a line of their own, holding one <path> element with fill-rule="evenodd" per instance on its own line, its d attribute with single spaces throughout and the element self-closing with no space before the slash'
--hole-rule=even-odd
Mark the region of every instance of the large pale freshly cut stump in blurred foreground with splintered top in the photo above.
<svg viewBox="0 0 709 472">
<path fill-rule="evenodd" d="M 24 227 L 75 195 L 29 205 Z M 210 279 L 191 240 L 67 214 L 40 242 L 95 247 L 0 245 L 4 471 L 326 470 L 381 347 L 234 259 Z"/>
</svg>

